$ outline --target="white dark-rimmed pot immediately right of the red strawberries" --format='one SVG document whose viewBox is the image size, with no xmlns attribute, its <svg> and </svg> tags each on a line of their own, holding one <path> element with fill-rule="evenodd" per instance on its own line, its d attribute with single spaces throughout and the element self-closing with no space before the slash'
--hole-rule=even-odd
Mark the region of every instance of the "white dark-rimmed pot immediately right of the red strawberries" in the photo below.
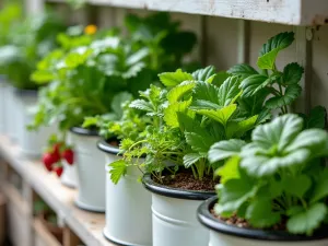
<svg viewBox="0 0 328 246">
<path fill-rule="evenodd" d="M 78 127 L 71 133 L 79 183 L 75 204 L 87 211 L 105 212 L 105 156 L 97 149 L 98 133 Z"/>
</svg>

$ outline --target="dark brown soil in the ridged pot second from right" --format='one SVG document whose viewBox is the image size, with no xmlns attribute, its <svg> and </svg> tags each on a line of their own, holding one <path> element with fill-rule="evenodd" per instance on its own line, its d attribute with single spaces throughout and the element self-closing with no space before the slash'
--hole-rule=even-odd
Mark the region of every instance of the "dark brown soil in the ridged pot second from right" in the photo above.
<svg viewBox="0 0 328 246">
<path fill-rule="evenodd" d="M 212 176 L 204 176 L 201 180 L 195 179 L 189 169 L 178 172 L 174 176 L 165 174 L 163 178 L 163 185 L 187 190 L 213 191 L 216 184 L 218 179 L 213 180 Z"/>
</svg>

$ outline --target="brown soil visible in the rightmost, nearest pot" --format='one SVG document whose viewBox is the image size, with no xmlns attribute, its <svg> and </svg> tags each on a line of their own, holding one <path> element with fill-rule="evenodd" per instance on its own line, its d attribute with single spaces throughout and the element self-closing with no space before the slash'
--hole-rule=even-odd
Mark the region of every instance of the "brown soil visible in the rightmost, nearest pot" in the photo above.
<svg viewBox="0 0 328 246">
<path fill-rule="evenodd" d="M 223 218 L 221 215 L 218 215 L 214 212 L 214 209 L 211 209 L 211 213 L 218 220 L 224 221 L 229 225 L 234 225 L 234 226 L 242 227 L 242 229 L 255 229 L 245 219 L 238 218 L 236 214 L 234 214 L 231 218 Z M 286 231 L 286 220 L 282 220 L 279 224 L 268 227 L 267 230 L 268 231 Z"/>
</svg>

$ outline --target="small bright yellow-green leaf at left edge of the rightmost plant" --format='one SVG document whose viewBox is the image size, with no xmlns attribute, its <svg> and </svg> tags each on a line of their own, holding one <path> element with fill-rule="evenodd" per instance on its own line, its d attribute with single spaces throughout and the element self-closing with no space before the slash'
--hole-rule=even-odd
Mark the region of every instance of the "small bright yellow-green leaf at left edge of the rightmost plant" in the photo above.
<svg viewBox="0 0 328 246">
<path fill-rule="evenodd" d="M 222 167 L 215 171 L 215 175 L 220 176 L 220 184 L 239 178 L 239 157 L 233 156 L 229 159 Z"/>
</svg>

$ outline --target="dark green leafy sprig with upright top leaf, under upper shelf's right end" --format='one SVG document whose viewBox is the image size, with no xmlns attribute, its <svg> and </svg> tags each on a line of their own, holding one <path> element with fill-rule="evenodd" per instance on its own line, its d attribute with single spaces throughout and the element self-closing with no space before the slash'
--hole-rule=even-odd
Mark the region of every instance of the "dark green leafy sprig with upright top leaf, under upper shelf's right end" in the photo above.
<svg viewBox="0 0 328 246">
<path fill-rule="evenodd" d="M 291 105 L 301 94 L 300 81 L 304 69 L 296 62 L 286 65 L 282 71 L 277 68 L 276 60 L 280 51 L 292 45 L 294 33 L 280 33 L 263 44 L 257 66 L 258 72 L 249 65 L 236 65 L 227 72 L 242 78 L 243 104 L 245 110 L 266 107 L 269 110 L 289 112 Z"/>
</svg>

